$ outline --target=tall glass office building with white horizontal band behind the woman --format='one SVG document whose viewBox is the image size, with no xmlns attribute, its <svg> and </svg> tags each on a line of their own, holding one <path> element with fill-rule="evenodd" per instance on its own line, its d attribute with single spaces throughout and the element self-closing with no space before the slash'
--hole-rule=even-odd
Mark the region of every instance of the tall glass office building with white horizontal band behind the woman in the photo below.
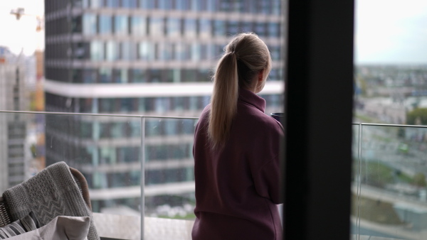
<svg viewBox="0 0 427 240">
<path fill-rule="evenodd" d="M 212 69 L 223 46 L 248 31 L 265 41 L 273 58 L 270 80 L 260 93 L 266 113 L 281 111 L 281 7 L 280 0 L 45 0 L 46 111 L 199 116 L 209 104 Z M 139 185 L 135 166 L 142 156 L 132 142 L 139 138 L 139 122 L 78 118 L 47 126 L 63 129 L 63 124 L 70 132 L 46 128 L 47 164 L 63 158 L 75 162 L 93 190 Z M 145 161 L 174 163 L 147 168 L 146 184 L 192 181 L 194 123 L 147 119 L 144 126 L 147 142 L 154 139 Z M 170 136 L 180 138 L 156 140 Z M 49 148 L 49 141 L 60 147 Z M 82 165 L 73 159 L 75 153 L 84 153 L 99 168 Z M 95 211 L 115 204 L 137 209 L 137 202 L 132 197 L 99 199 L 93 206 Z"/>
</svg>

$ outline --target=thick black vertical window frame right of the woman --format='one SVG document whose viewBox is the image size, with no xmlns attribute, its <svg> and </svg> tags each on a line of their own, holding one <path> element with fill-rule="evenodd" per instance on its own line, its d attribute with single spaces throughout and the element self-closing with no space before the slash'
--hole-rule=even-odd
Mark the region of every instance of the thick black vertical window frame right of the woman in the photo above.
<svg viewBox="0 0 427 240">
<path fill-rule="evenodd" d="M 354 0 L 288 0 L 284 239 L 349 239 Z"/>
</svg>

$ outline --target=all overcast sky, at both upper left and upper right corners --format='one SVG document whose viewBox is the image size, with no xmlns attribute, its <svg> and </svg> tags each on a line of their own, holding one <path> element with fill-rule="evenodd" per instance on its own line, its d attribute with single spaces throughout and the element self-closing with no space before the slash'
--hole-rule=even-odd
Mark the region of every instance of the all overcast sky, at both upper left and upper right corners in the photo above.
<svg viewBox="0 0 427 240">
<path fill-rule="evenodd" d="M 20 21 L 11 9 L 42 15 L 43 0 L 0 0 L 0 45 L 30 55 L 44 48 L 44 33 L 36 33 L 36 18 Z M 354 35 L 356 63 L 427 64 L 427 0 L 357 0 Z"/>
</svg>

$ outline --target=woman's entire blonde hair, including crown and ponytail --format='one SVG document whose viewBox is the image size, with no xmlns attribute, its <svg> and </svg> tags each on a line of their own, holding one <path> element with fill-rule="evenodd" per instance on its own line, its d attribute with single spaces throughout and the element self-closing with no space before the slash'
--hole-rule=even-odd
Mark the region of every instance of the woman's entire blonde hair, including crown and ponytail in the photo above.
<svg viewBox="0 0 427 240">
<path fill-rule="evenodd" d="M 249 89 L 263 70 L 263 82 L 271 70 L 267 45 L 255 33 L 240 33 L 224 48 L 214 74 L 208 136 L 212 148 L 222 148 L 237 111 L 238 89 Z M 263 86 L 262 86 L 263 87 Z"/>
</svg>

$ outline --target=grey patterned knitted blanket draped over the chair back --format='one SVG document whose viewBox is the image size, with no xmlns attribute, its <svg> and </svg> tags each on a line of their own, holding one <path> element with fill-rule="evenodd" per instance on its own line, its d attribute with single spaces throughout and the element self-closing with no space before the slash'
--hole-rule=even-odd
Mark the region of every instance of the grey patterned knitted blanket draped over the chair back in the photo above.
<svg viewBox="0 0 427 240">
<path fill-rule="evenodd" d="M 12 221 L 33 211 L 41 227 L 58 216 L 90 217 L 88 240 L 100 237 L 92 212 L 85 204 L 70 168 L 64 162 L 48 166 L 40 173 L 3 193 Z"/>
</svg>

